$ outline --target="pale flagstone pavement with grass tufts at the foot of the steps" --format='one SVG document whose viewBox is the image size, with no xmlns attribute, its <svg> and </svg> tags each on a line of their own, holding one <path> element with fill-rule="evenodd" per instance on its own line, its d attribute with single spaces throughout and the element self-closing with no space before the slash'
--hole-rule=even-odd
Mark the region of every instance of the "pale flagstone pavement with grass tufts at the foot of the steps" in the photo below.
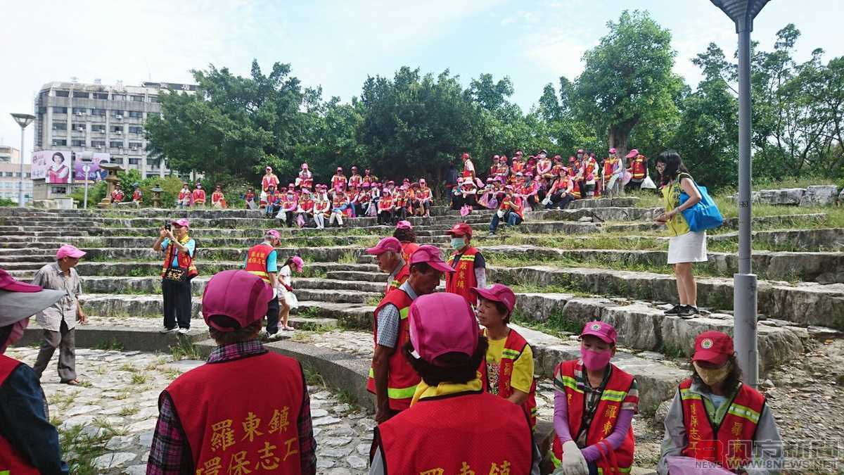
<svg viewBox="0 0 844 475">
<path fill-rule="evenodd" d="M 170 355 L 149 352 L 86 348 L 76 352 L 83 385 L 59 384 L 56 358 L 41 379 L 51 421 L 60 432 L 62 457 L 71 464 L 71 472 L 87 467 L 106 475 L 146 473 L 160 391 L 203 362 L 174 361 Z M 13 347 L 6 354 L 31 366 L 38 350 Z M 322 386 L 310 385 L 310 390 L 317 473 L 365 473 L 375 425 L 371 414 Z"/>
</svg>

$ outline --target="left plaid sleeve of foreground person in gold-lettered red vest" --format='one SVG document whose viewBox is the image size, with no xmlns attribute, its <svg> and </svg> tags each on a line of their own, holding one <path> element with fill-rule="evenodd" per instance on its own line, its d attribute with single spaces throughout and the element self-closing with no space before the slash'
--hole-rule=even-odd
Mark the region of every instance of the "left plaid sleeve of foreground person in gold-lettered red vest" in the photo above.
<svg viewBox="0 0 844 475">
<path fill-rule="evenodd" d="M 149 448 L 147 475 L 192 473 L 191 450 L 187 446 L 181 422 L 167 391 L 159 397 L 159 420 L 155 424 L 152 446 Z"/>
</svg>

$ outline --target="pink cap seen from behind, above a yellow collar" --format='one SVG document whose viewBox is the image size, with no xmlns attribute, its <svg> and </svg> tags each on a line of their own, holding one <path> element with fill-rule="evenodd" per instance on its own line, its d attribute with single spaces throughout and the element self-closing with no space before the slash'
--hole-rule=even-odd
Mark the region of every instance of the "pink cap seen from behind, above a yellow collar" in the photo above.
<svg viewBox="0 0 844 475">
<path fill-rule="evenodd" d="M 417 298 L 410 306 L 409 319 L 415 358 L 433 363 L 451 352 L 471 357 L 478 348 L 478 322 L 468 301 L 456 293 L 436 292 Z"/>
</svg>

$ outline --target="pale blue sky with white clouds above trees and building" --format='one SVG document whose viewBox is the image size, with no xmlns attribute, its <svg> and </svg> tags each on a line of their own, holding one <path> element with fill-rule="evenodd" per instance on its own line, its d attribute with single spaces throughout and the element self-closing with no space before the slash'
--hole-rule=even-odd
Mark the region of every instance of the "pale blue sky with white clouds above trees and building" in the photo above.
<svg viewBox="0 0 844 475">
<path fill-rule="evenodd" d="M 403 65 L 435 74 L 448 68 L 464 84 L 482 73 L 510 76 L 512 100 L 527 111 L 545 84 L 580 73 L 582 53 L 625 8 L 648 10 L 671 30 L 674 69 L 693 86 L 699 73 L 690 59 L 709 41 L 733 54 L 733 25 L 709 0 L 0 0 L 0 142 L 19 146 L 8 113 L 31 112 L 46 82 L 189 82 L 189 69 L 209 63 L 248 74 L 253 57 L 264 70 L 291 63 L 304 85 L 322 85 L 323 96 L 343 101 L 360 94 L 368 75 Z M 803 33 L 798 60 L 816 47 L 828 60 L 844 55 L 841 18 L 837 0 L 772 0 L 753 38 L 770 49 L 776 30 L 791 22 Z"/>
</svg>

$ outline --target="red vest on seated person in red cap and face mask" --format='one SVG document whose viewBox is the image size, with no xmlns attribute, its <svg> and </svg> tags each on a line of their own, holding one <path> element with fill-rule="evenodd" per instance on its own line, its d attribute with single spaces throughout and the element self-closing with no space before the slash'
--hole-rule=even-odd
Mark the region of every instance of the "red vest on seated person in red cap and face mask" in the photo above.
<svg viewBox="0 0 844 475">
<path fill-rule="evenodd" d="M 709 419 L 701 395 L 690 387 L 691 379 L 679 385 L 683 423 L 689 439 L 683 455 L 716 462 L 730 470 L 747 465 L 753 456 L 752 441 L 765 408 L 765 396 L 748 385 L 741 385 L 721 424 L 716 426 Z"/>
</svg>

